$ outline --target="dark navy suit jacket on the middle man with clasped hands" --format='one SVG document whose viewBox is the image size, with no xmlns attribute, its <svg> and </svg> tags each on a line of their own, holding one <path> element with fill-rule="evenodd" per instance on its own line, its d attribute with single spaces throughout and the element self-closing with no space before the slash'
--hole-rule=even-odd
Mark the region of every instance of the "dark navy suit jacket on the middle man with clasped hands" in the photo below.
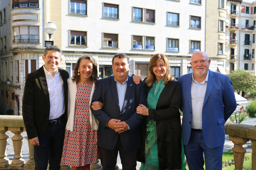
<svg viewBox="0 0 256 170">
<path fill-rule="evenodd" d="M 120 111 L 117 85 L 114 77 L 100 79 L 95 87 L 91 103 L 95 101 L 104 104 L 101 110 L 93 110 L 91 108 L 93 115 L 100 122 L 98 146 L 105 149 L 113 149 L 120 135 L 122 146 L 126 151 L 140 147 L 141 132 L 139 124 L 143 116 L 136 113 L 136 108 L 139 104 L 147 105 L 145 83 L 141 81 L 136 85 L 132 77 L 128 77 L 124 105 Z M 129 125 L 130 130 L 118 134 L 111 128 L 106 127 L 110 119 L 125 121 Z"/>
</svg>

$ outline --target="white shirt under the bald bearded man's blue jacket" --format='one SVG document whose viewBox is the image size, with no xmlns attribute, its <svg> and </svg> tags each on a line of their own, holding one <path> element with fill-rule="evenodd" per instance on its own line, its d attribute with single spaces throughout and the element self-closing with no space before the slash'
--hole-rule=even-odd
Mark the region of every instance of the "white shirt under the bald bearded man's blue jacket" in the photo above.
<svg viewBox="0 0 256 170">
<path fill-rule="evenodd" d="M 207 73 L 205 81 L 201 83 L 194 80 L 194 76 L 192 74 L 191 80 L 191 104 L 192 104 L 192 129 L 202 129 L 202 110 L 204 104 L 204 96 L 206 92 L 207 82 L 208 82 L 208 74 Z"/>
</svg>

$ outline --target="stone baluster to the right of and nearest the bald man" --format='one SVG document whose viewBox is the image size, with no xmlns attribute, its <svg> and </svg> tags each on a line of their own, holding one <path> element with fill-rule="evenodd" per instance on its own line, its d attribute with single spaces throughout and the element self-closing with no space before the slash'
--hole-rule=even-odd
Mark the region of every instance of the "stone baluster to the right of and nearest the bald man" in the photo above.
<svg viewBox="0 0 256 170">
<path fill-rule="evenodd" d="M 249 141 L 247 138 L 241 138 L 238 136 L 229 136 L 229 140 L 231 140 L 236 146 L 232 148 L 234 154 L 234 170 L 243 170 L 243 161 L 245 158 L 246 149 L 243 148 L 243 145 Z"/>
</svg>

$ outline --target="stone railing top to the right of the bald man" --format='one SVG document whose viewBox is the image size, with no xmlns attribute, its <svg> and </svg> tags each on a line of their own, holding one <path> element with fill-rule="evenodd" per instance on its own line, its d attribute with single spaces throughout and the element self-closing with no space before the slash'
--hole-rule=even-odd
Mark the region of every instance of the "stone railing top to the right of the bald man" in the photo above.
<svg viewBox="0 0 256 170">
<path fill-rule="evenodd" d="M 248 130 L 250 131 L 250 135 L 247 133 Z M 227 135 L 239 136 L 241 138 L 252 138 L 252 131 L 256 134 L 256 126 L 239 123 L 225 123 L 225 134 Z M 256 139 L 256 136 L 252 139 Z"/>
</svg>

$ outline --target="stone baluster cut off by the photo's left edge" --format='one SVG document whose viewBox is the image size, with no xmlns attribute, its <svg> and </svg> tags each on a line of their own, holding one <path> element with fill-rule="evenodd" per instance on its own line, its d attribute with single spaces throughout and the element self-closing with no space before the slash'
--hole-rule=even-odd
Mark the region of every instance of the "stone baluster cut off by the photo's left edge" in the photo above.
<svg viewBox="0 0 256 170">
<path fill-rule="evenodd" d="M 5 134 L 8 127 L 0 127 L 0 168 L 9 166 L 9 159 L 6 157 L 7 140 L 9 136 Z"/>
</svg>

